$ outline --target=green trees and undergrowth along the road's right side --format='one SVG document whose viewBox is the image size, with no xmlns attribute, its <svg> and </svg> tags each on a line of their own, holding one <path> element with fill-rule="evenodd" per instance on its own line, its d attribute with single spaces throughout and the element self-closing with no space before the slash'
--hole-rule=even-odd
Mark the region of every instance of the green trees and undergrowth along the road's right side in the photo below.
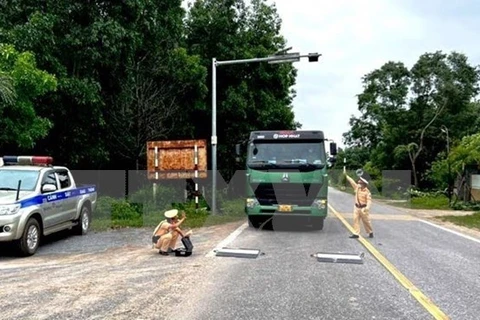
<svg viewBox="0 0 480 320">
<path fill-rule="evenodd" d="M 352 192 L 343 167 L 354 179 L 361 168 L 373 196 L 390 205 L 479 211 L 468 183 L 480 174 L 479 84 L 480 68 L 459 52 L 428 52 L 411 66 L 387 61 L 366 74 L 331 185 Z"/>
</svg>

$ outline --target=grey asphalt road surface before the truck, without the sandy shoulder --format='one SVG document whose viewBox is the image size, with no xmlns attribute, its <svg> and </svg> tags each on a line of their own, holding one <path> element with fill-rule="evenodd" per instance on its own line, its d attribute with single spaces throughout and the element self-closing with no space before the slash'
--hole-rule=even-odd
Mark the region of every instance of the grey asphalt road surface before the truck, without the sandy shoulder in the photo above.
<svg viewBox="0 0 480 320">
<path fill-rule="evenodd" d="M 329 202 L 352 224 L 351 195 Z M 350 217 L 349 217 L 350 216 Z M 402 209 L 372 208 L 368 239 L 450 319 L 480 314 L 480 243 L 414 220 Z M 433 319 L 331 214 L 322 231 L 245 229 L 229 247 L 260 249 L 256 259 L 213 257 L 177 319 Z M 362 265 L 323 263 L 320 251 L 365 252 Z"/>
</svg>

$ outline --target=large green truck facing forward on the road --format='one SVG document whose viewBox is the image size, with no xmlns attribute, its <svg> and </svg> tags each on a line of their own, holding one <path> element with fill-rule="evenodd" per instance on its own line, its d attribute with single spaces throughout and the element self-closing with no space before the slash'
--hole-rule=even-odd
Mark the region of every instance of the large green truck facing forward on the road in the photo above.
<svg viewBox="0 0 480 320">
<path fill-rule="evenodd" d="M 323 131 L 254 131 L 246 142 L 245 213 L 258 228 L 272 216 L 306 218 L 323 229 L 327 216 L 328 173 L 337 146 L 327 157 Z M 241 155 L 237 144 L 237 156 Z M 239 159 L 239 158 L 238 158 Z"/>
</svg>

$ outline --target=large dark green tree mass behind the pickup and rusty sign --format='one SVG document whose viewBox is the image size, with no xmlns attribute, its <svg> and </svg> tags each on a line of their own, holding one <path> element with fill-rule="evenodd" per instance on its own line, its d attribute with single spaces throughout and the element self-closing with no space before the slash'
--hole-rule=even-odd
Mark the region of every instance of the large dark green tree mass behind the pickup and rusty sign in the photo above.
<svg viewBox="0 0 480 320">
<path fill-rule="evenodd" d="M 33 149 L 12 138 L 6 150 L 50 154 L 72 168 L 127 169 L 145 167 L 148 140 L 209 140 L 211 59 L 270 55 L 286 39 L 265 0 L 199 0 L 188 12 L 181 4 L 2 1 L 0 42 L 34 53 L 58 79 L 35 104 L 49 131 L 32 136 Z M 234 144 L 248 131 L 298 127 L 295 77 L 285 64 L 218 68 L 220 168 L 233 168 Z M 3 100 L 9 83 L 0 74 Z"/>
</svg>

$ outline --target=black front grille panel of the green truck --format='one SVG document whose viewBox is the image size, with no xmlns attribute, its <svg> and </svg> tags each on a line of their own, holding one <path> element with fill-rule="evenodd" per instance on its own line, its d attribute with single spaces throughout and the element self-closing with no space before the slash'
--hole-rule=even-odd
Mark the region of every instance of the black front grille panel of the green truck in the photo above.
<svg viewBox="0 0 480 320">
<path fill-rule="evenodd" d="M 310 206 L 321 183 L 259 183 L 251 184 L 260 205 L 290 204 Z"/>
</svg>

